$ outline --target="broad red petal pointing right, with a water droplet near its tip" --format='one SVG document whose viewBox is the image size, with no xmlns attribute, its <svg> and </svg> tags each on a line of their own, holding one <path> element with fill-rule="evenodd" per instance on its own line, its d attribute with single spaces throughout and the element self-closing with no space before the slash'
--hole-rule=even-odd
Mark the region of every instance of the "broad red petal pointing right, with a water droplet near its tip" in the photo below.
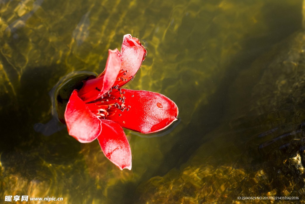
<svg viewBox="0 0 305 204">
<path fill-rule="evenodd" d="M 116 121 L 122 127 L 153 133 L 167 128 L 177 120 L 178 107 L 166 96 L 150 91 L 121 91 L 125 96 L 126 109 L 107 119 Z"/>
</svg>

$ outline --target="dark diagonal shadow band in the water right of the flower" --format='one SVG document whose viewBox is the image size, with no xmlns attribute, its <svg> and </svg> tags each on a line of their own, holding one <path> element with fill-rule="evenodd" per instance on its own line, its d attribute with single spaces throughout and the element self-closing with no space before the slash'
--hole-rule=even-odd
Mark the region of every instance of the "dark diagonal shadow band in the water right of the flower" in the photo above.
<svg viewBox="0 0 305 204">
<path fill-rule="evenodd" d="M 245 36 L 241 44 L 243 45 L 242 50 L 246 51 L 237 54 L 234 57 L 235 59 L 232 60 L 233 62 L 224 69 L 226 70 L 224 78 L 219 84 L 217 91 L 208 98 L 209 104 L 199 106 L 192 120 L 188 123 L 188 126 L 179 133 L 180 135 L 185 135 L 185 137 L 180 137 L 171 151 L 164 156 L 164 162 L 160 165 L 160 168 L 155 172 L 154 176 L 163 176 L 170 169 L 179 168 L 183 163 L 188 161 L 190 156 L 203 143 L 209 143 L 212 138 L 207 138 L 205 135 L 215 128 L 227 125 L 221 124 L 221 122 L 223 122 L 223 116 L 228 114 L 229 87 L 235 81 L 238 73 L 244 69 L 248 69 L 252 62 L 262 55 L 262 53 L 267 52 L 275 43 L 287 38 L 300 29 L 302 21 L 301 12 L 300 15 L 289 15 L 289 18 L 281 15 L 280 12 L 295 13 L 295 10 L 301 8 L 299 6 L 301 4 L 292 5 L 291 7 L 283 7 L 283 5 L 278 4 L 276 6 L 278 12 L 275 18 L 276 20 L 274 20 L 274 13 L 269 9 L 270 5 L 265 5 L 263 13 L 267 24 L 270 28 L 274 28 L 274 32 L 265 33 L 254 38 L 247 38 Z M 275 33 L 277 35 L 274 35 Z M 257 83 L 256 80 L 261 76 L 262 72 L 256 74 L 256 78 L 253 81 L 249 81 L 248 87 L 254 86 Z M 213 79 L 211 79 L 212 81 Z M 209 155 L 202 156 L 208 157 Z"/>
</svg>

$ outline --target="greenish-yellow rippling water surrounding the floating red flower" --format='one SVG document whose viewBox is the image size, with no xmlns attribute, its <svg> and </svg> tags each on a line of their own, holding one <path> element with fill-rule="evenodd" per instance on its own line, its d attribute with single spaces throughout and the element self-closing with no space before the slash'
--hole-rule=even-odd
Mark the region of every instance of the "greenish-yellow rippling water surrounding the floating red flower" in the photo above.
<svg viewBox="0 0 305 204">
<path fill-rule="evenodd" d="M 303 151 L 293 143 L 304 137 L 293 133 L 305 118 L 302 18 L 301 0 L 0 1 L 1 202 L 5 195 L 63 197 L 58 203 L 302 195 L 302 168 L 287 163 Z M 101 73 L 107 50 L 120 48 L 127 33 L 147 57 L 125 87 L 172 99 L 179 124 L 154 137 L 126 130 L 132 170 L 120 171 L 97 141 L 80 144 L 60 123 L 49 136 L 34 126 L 52 120 L 56 83 L 71 72 Z M 296 136 L 278 138 L 286 133 Z M 281 151 L 285 144 L 293 148 Z"/>
</svg>

